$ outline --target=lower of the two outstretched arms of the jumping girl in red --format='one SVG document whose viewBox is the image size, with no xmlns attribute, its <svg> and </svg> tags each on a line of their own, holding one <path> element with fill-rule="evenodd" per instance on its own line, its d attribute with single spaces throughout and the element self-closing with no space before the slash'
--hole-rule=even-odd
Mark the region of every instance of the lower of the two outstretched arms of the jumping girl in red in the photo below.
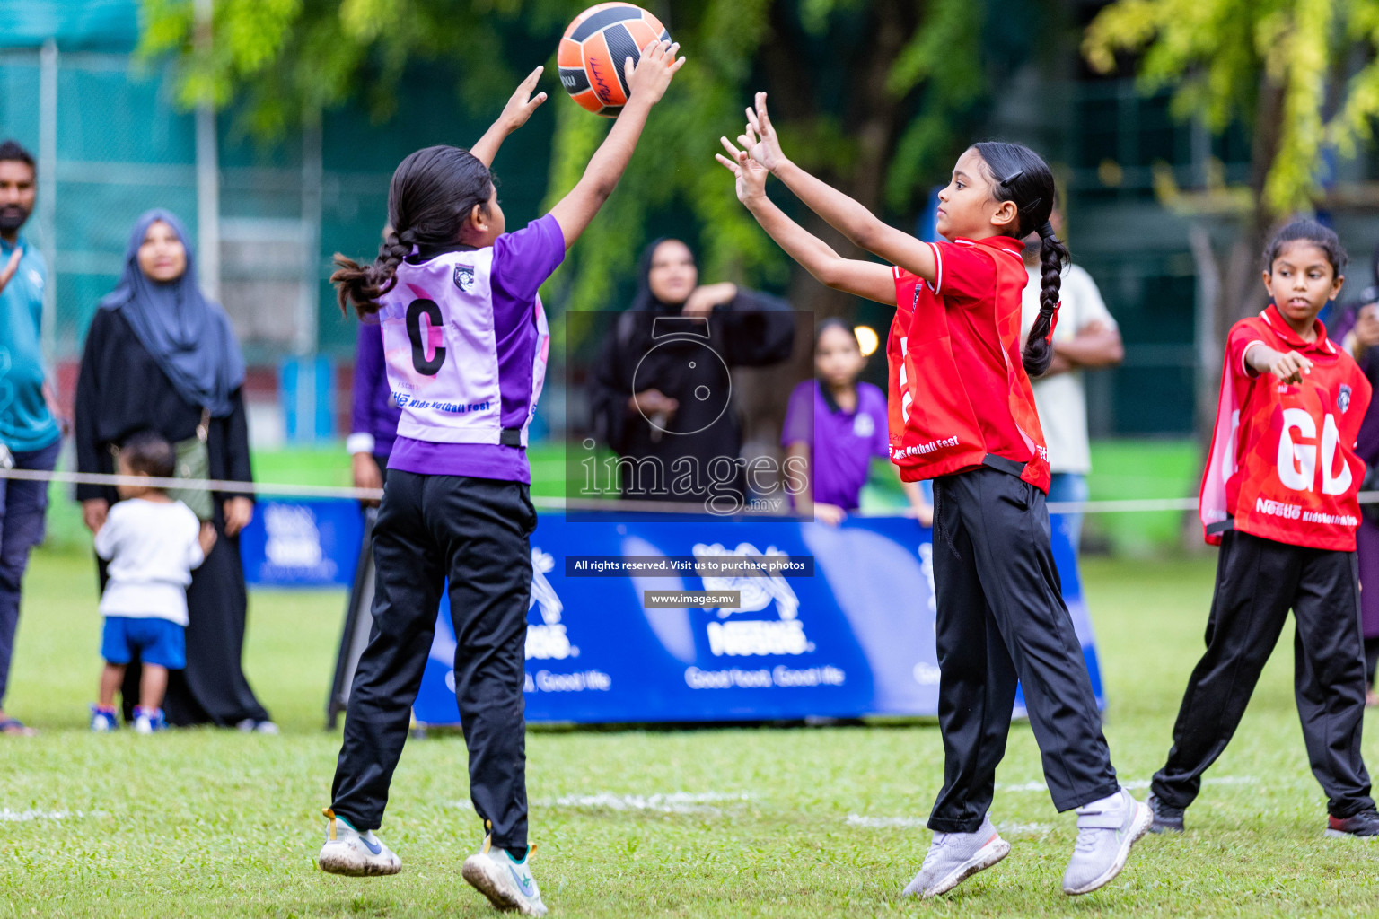
<svg viewBox="0 0 1379 919">
<path fill-rule="evenodd" d="M 833 251 L 827 242 L 814 236 L 792 220 L 785 211 L 767 197 L 767 169 L 738 150 L 727 138 L 720 138 L 729 157 L 717 154 L 729 172 L 736 176 L 738 200 L 746 205 L 761 229 L 776 241 L 786 255 L 798 262 L 825 287 L 865 296 L 877 303 L 895 306 L 895 278 L 891 269 L 876 262 L 845 259 Z"/>
</svg>

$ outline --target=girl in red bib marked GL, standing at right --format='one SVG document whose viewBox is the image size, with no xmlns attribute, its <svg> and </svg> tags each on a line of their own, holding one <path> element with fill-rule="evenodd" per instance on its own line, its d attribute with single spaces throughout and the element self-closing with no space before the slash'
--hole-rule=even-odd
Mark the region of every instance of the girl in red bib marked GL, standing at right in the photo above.
<svg viewBox="0 0 1379 919">
<path fill-rule="evenodd" d="M 1289 223 L 1265 251 L 1273 303 L 1226 339 L 1201 491 L 1207 541 L 1220 546 L 1216 592 L 1207 653 L 1187 681 L 1168 762 L 1154 774 L 1154 832 L 1183 831 L 1183 810 L 1236 733 L 1291 608 L 1298 714 L 1327 792 L 1325 832 L 1379 836 L 1360 755 L 1365 661 L 1356 561 L 1365 473 L 1356 438 L 1371 387 L 1317 320 L 1340 293 L 1345 266 L 1333 231 Z"/>
</svg>

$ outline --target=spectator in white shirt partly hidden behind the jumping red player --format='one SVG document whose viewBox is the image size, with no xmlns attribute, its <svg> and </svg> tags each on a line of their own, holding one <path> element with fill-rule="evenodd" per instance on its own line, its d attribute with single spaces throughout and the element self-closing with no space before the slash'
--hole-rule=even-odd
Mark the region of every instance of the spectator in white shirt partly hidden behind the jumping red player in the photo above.
<svg viewBox="0 0 1379 919">
<path fill-rule="evenodd" d="M 1051 218 L 1062 236 L 1063 215 L 1056 208 Z M 1025 238 L 1025 267 L 1029 282 L 1022 300 L 1022 333 L 1029 335 L 1038 316 L 1040 295 L 1040 237 Z M 1049 502 L 1085 502 L 1087 474 L 1092 471 L 1092 451 L 1087 437 L 1087 391 L 1083 369 L 1113 366 L 1125 357 L 1120 328 L 1102 300 L 1096 282 L 1077 263 L 1063 271 L 1054 329 L 1054 362 L 1044 376 L 1034 380 L 1034 405 L 1038 408 L 1040 427 L 1048 444 L 1048 466 L 1052 481 Z M 1083 543 L 1083 515 L 1063 514 L 1063 532 L 1076 554 Z"/>
</svg>

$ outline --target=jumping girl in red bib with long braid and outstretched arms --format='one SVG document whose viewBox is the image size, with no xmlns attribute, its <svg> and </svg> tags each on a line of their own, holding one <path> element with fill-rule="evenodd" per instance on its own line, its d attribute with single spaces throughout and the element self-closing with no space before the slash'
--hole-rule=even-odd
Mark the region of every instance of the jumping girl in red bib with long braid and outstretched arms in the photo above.
<svg viewBox="0 0 1379 919">
<path fill-rule="evenodd" d="M 738 150 L 720 161 L 763 229 L 829 287 L 895 304 L 887 354 L 891 459 L 900 478 L 934 479 L 934 583 L 943 789 L 934 843 L 906 894 L 932 897 L 1009 851 L 989 814 L 1015 688 L 1025 689 L 1054 805 L 1077 810 L 1063 891 L 1111 880 L 1151 820 L 1120 787 L 1081 642 L 1063 605 L 1045 510 L 1048 456 L 1030 375 L 1052 358 L 1067 249 L 1048 223 L 1054 176 L 1029 149 L 978 143 L 939 193 L 924 242 L 877 219 L 785 157 L 758 94 Z M 774 174 L 859 248 L 895 267 L 840 258 L 765 196 Z M 1043 240 L 1038 321 L 1020 349 L 1020 238 Z"/>
</svg>

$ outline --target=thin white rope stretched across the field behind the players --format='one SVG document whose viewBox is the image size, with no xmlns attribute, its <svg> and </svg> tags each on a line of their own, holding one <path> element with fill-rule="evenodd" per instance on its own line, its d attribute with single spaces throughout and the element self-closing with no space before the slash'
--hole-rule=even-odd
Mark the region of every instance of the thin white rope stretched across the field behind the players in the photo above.
<svg viewBox="0 0 1379 919">
<path fill-rule="evenodd" d="M 233 482 L 217 478 L 153 478 L 149 475 L 105 475 L 101 473 L 63 473 L 22 468 L 0 468 L 0 479 L 18 482 L 68 482 L 74 485 L 150 485 L 153 488 L 207 489 L 232 495 L 263 495 L 274 497 L 343 497 L 357 502 L 376 502 L 381 488 L 350 488 L 345 485 L 285 485 L 273 482 Z M 656 514 L 703 514 L 703 504 L 681 502 L 625 502 L 565 497 L 532 497 L 541 510 L 563 511 L 634 511 Z M 1379 504 L 1379 492 L 1360 492 L 1361 504 Z M 1132 497 L 1103 502 L 1049 502 L 1049 514 L 1143 514 L 1162 511 L 1194 511 L 1196 497 Z M 749 517 L 779 517 L 764 511 L 742 511 Z M 734 514 L 736 517 L 738 514 Z M 889 511 L 862 511 L 855 517 L 894 517 Z"/>
</svg>

